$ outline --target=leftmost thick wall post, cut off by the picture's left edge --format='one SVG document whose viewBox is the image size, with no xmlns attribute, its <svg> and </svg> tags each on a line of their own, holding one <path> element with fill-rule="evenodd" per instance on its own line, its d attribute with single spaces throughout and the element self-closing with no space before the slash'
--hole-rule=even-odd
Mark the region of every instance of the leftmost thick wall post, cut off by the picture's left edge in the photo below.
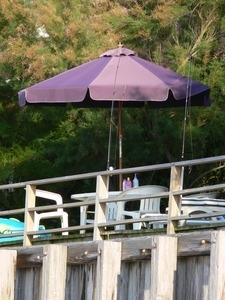
<svg viewBox="0 0 225 300">
<path fill-rule="evenodd" d="M 0 299 L 14 300 L 16 259 L 16 250 L 0 250 Z"/>
</svg>

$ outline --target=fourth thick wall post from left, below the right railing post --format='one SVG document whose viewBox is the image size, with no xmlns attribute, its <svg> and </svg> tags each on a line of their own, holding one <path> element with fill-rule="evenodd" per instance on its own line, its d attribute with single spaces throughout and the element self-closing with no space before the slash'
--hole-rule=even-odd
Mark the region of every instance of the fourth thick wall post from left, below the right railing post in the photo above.
<svg viewBox="0 0 225 300">
<path fill-rule="evenodd" d="M 151 255 L 151 288 L 147 299 L 175 299 L 177 269 L 177 238 L 171 236 L 153 237 Z M 147 300 L 146 299 L 146 300 Z"/>
</svg>

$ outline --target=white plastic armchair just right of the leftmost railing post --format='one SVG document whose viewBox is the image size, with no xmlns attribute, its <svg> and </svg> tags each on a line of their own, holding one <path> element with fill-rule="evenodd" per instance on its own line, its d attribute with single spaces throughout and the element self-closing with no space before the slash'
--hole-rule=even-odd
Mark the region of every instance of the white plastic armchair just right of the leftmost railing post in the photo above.
<svg viewBox="0 0 225 300">
<path fill-rule="evenodd" d="M 36 190 L 36 197 L 52 200 L 54 204 L 63 204 L 63 199 L 60 194 L 52 193 L 44 190 Z M 54 219 L 60 218 L 61 227 L 67 228 L 68 227 L 68 214 L 63 211 L 63 208 L 57 208 L 54 211 L 48 212 L 35 212 L 34 214 L 34 230 L 38 230 L 41 219 Z M 63 235 L 68 235 L 68 232 L 63 232 Z"/>
</svg>

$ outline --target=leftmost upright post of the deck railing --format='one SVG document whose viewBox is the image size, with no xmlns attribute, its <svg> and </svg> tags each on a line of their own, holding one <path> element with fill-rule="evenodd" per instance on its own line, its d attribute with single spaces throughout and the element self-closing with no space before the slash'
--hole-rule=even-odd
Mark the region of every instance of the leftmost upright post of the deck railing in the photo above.
<svg viewBox="0 0 225 300">
<path fill-rule="evenodd" d="M 25 201 L 25 214 L 24 214 L 24 235 L 23 246 L 31 246 L 32 236 L 28 236 L 27 232 L 34 230 L 34 211 L 28 211 L 28 208 L 35 207 L 36 186 L 26 186 L 26 201 Z"/>
</svg>

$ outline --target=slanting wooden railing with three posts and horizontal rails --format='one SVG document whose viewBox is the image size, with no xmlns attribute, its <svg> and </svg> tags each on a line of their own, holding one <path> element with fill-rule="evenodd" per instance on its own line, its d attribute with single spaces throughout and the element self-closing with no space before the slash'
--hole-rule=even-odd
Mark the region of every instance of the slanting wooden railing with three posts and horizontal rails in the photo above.
<svg viewBox="0 0 225 300">
<path fill-rule="evenodd" d="M 176 228 L 178 226 L 178 222 L 180 220 L 187 220 L 190 217 L 187 215 L 181 214 L 181 196 L 196 194 L 201 192 L 209 192 L 209 191 L 219 191 L 225 188 L 225 183 L 219 183 L 210 186 L 202 186 L 195 188 L 183 189 L 183 181 L 184 181 L 184 170 L 188 168 L 190 165 L 203 165 L 203 164 L 212 164 L 212 163 L 224 163 L 225 155 L 210 157 L 204 159 L 196 159 L 196 160 L 188 160 L 188 161 L 179 161 L 173 163 L 165 163 L 165 164 L 156 164 L 150 166 L 142 166 L 135 168 L 127 168 L 121 170 L 113 170 L 113 171 L 101 171 L 101 172 L 93 172 L 86 174 L 78 174 L 72 176 L 64 176 L 64 177 L 55 177 L 49 179 L 42 180 L 33 180 L 26 181 L 20 183 L 6 184 L 1 185 L 0 190 L 7 189 L 16 189 L 16 188 L 26 188 L 26 199 L 25 199 L 25 207 L 21 209 L 10 209 L 0 212 L 0 216 L 10 217 L 15 214 L 24 214 L 24 233 L 23 233 L 23 245 L 29 246 L 32 244 L 33 235 L 41 234 L 41 233 L 62 233 L 63 231 L 68 231 L 69 233 L 79 232 L 84 229 L 93 229 L 93 240 L 101 240 L 102 239 L 102 228 L 107 226 L 115 226 L 119 224 L 128 224 L 133 222 L 141 222 L 143 219 L 127 219 L 122 221 L 111 221 L 110 223 L 106 222 L 106 216 L 104 215 L 105 205 L 107 202 L 119 202 L 124 201 L 124 198 L 119 196 L 107 198 L 107 192 L 109 187 L 109 180 L 112 176 L 117 176 L 123 174 L 131 173 L 144 173 L 144 172 L 154 172 L 159 170 L 168 170 L 170 172 L 169 178 L 169 191 L 163 193 L 156 193 L 154 195 L 151 194 L 151 198 L 154 197 L 168 197 L 168 216 L 161 216 L 159 218 L 155 217 L 156 221 L 165 221 L 167 220 L 167 234 L 174 234 Z M 95 179 L 96 180 L 96 198 L 92 201 L 85 202 L 74 202 L 64 203 L 62 205 L 51 205 L 51 206 L 39 206 L 35 207 L 35 190 L 40 186 L 44 186 L 47 184 L 55 184 L 69 181 L 77 181 L 77 180 L 86 180 L 86 179 Z M 143 198 L 148 198 L 150 195 L 146 195 Z M 138 200 L 139 197 L 130 197 L 129 201 Z M 95 204 L 95 221 L 94 224 L 89 224 L 86 226 L 69 226 L 68 228 L 55 228 L 55 229 L 46 229 L 44 231 L 34 231 L 34 212 L 45 211 L 46 209 L 56 209 L 62 207 L 64 209 L 80 207 L 82 205 L 91 205 Z M 223 212 L 215 212 L 211 214 L 207 214 L 207 216 L 220 216 L 225 215 L 225 211 Z M 206 216 L 206 214 L 195 215 L 196 218 L 201 218 Z M 150 221 L 152 218 L 146 218 L 145 221 Z M 10 234 L 10 236 L 18 236 L 21 233 Z M 1 237 L 7 237 L 9 235 L 2 234 Z"/>
</svg>

